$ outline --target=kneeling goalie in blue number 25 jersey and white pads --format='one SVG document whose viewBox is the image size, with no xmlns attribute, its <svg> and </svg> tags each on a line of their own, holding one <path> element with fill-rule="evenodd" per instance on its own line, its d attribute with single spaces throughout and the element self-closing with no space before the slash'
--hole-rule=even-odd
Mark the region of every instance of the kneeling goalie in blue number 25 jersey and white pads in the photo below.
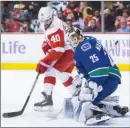
<svg viewBox="0 0 130 128">
<path fill-rule="evenodd" d="M 125 115 L 128 107 L 119 106 L 119 97 L 111 96 L 121 84 L 118 67 L 96 38 L 81 33 L 71 35 L 77 38 L 74 59 L 79 75 L 74 81 L 81 80 L 81 89 L 65 100 L 65 116 L 94 124 Z"/>
</svg>

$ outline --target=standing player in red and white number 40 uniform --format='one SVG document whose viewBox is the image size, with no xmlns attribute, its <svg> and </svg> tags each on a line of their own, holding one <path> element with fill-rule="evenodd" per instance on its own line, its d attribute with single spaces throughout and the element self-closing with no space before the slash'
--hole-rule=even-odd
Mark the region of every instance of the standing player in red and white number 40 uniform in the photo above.
<svg viewBox="0 0 130 128">
<path fill-rule="evenodd" d="M 34 104 L 35 109 L 53 105 L 52 93 L 56 79 L 59 79 L 72 94 L 76 90 L 70 75 L 74 67 L 74 52 L 72 40 L 67 32 L 69 27 L 54 15 L 51 7 L 42 7 L 38 19 L 46 39 L 42 45 L 46 56 L 39 61 L 36 68 L 36 71 L 44 74 L 45 77 L 43 100 Z"/>
</svg>

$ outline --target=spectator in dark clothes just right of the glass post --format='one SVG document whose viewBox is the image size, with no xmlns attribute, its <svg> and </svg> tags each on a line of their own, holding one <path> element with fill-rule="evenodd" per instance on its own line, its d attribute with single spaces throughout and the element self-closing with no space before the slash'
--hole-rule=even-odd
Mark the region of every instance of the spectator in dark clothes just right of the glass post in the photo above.
<svg viewBox="0 0 130 128">
<path fill-rule="evenodd" d="M 115 30 L 115 20 L 114 17 L 111 14 L 110 9 L 105 9 L 104 10 L 104 16 L 105 16 L 105 31 L 111 32 Z"/>
</svg>

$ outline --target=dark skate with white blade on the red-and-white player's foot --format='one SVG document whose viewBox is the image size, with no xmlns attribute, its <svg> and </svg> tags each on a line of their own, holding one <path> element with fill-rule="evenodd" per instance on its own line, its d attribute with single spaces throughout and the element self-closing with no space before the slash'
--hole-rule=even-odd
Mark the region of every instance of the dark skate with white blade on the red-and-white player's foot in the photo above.
<svg viewBox="0 0 130 128">
<path fill-rule="evenodd" d="M 43 100 L 34 104 L 35 111 L 48 111 L 53 106 L 52 94 L 47 95 L 45 92 L 41 92 Z"/>
</svg>

